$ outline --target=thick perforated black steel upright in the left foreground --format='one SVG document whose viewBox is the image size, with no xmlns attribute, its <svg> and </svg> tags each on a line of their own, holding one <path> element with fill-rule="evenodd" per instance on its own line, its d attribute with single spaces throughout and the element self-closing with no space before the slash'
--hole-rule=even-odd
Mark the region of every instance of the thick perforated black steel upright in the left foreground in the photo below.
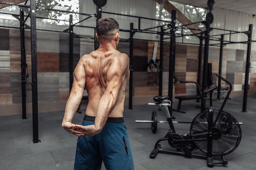
<svg viewBox="0 0 256 170">
<path fill-rule="evenodd" d="M 33 142 L 38 143 L 38 94 L 36 55 L 36 0 L 30 0 Z"/>
</svg>

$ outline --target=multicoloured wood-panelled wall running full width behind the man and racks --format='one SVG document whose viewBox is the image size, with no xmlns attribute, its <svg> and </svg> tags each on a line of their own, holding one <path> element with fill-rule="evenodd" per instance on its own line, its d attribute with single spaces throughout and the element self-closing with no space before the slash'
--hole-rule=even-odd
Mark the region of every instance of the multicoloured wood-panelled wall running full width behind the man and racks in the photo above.
<svg viewBox="0 0 256 170">
<path fill-rule="evenodd" d="M 66 102 L 69 96 L 69 35 L 66 33 L 37 32 L 38 102 Z M 74 67 L 79 58 L 94 49 L 94 40 L 74 38 Z M 20 31 L 0 29 L 0 106 L 21 104 Z M 154 86 L 156 71 L 148 69 L 154 42 L 134 40 L 133 49 L 133 96 L 158 95 L 159 83 Z M 30 32 L 25 31 L 26 60 L 29 78 L 26 84 L 27 103 L 31 103 L 31 48 Z M 119 42 L 118 50 L 129 55 L 128 42 Z M 164 43 L 163 95 L 168 94 L 169 43 Z M 256 90 L 256 52 L 252 51 L 249 89 Z M 176 44 L 175 77 L 173 94 L 196 93 L 194 84 L 181 84 L 180 80 L 197 80 L 198 46 Z M 159 44 L 157 51 L 159 58 Z M 246 51 L 224 49 L 222 76 L 233 85 L 233 91 L 243 91 Z M 209 62 L 212 63 L 214 84 L 218 73 L 219 48 L 209 47 Z M 158 79 L 159 80 L 159 79 Z M 225 86 L 222 83 L 222 86 Z M 128 84 L 126 97 L 128 97 Z M 86 94 L 86 92 L 85 92 Z M 136 103 L 134 103 L 136 104 Z"/>
</svg>

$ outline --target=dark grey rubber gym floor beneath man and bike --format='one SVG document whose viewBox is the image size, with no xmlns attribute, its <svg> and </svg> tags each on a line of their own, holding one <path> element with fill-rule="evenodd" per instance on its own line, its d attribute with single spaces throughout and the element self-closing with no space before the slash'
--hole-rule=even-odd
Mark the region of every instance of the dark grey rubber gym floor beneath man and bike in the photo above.
<svg viewBox="0 0 256 170">
<path fill-rule="evenodd" d="M 209 100 L 207 100 L 209 102 Z M 223 99 L 213 101 L 218 109 Z M 256 169 L 256 97 L 247 99 L 247 112 L 242 112 L 243 98 L 228 99 L 224 110 L 242 122 L 242 139 L 234 152 L 225 156 L 226 166 L 215 165 L 214 170 L 255 170 Z M 186 113 L 173 111 L 175 121 L 192 121 L 200 112 L 200 103 L 194 100 L 183 101 L 182 110 Z M 177 102 L 173 102 L 177 108 Z M 158 121 L 165 121 L 164 109 L 158 111 L 156 106 L 137 105 L 132 110 L 125 107 L 124 118 L 129 133 L 134 158 L 135 170 L 206 170 L 205 159 L 186 158 L 178 155 L 159 153 L 155 159 L 149 155 L 155 142 L 166 135 L 169 126 L 157 124 L 157 132 L 151 132 L 151 124 L 135 123 L 135 120 L 150 120 L 152 111 L 157 111 Z M 84 113 L 85 110 L 83 110 Z M 61 127 L 63 112 L 39 113 L 39 139 L 34 144 L 32 133 L 32 115 L 22 119 L 21 115 L 0 117 L 0 169 L 1 170 L 72 170 L 77 137 Z M 76 113 L 74 123 L 80 124 L 83 114 Z M 189 133 L 190 124 L 174 124 L 176 133 Z M 173 150 L 167 141 L 162 148 Z M 197 153 L 202 153 L 196 150 Z M 218 158 L 217 158 L 218 159 Z M 122 167 L 120 167 L 120 170 Z M 102 166 L 102 170 L 105 167 Z"/>
</svg>

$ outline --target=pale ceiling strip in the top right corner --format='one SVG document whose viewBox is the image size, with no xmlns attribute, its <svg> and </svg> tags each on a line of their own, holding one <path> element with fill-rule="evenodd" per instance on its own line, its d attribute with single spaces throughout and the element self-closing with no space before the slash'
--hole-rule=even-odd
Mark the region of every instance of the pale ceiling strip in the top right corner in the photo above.
<svg viewBox="0 0 256 170">
<path fill-rule="evenodd" d="M 207 0 L 171 0 L 195 7 L 207 8 Z M 256 0 L 214 0 L 215 7 L 256 15 Z M 214 10 L 214 9 L 213 9 Z"/>
</svg>

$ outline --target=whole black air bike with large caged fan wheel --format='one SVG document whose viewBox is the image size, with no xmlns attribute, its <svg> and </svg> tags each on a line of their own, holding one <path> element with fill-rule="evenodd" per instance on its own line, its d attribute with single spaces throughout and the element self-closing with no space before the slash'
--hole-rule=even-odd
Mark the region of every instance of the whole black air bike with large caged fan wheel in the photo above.
<svg viewBox="0 0 256 170">
<path fill-rule="evenodd" d="M 223 110 L 227 99 L 232 90 L 232 84 L 217 74 L 217 77 L 229 84 L 229 91 L 220 107 L 220 110 L 213 109 L 212 95 L 217 86 L 213 86 L 203 91 L 204 95 L 210 93 L 210 106 L 205 107 L 204 99 L 200 94 L 202 107 L 204 108 L 201 113 L 195 116 L 190 126 L 190 133 L 185 135 L 179 135 L 175 133 L 173 123 L 175 122 L 175 116 L 172 116 L 169 112 L 171 109 L 171 101 L 168 100 L 168 96 L 155 96 L 154 101 L 156 103 L 149 103 L 148 105 L 158 106 L 159 110 L 164 107 L 167 115 L 167 121 L 157 121 L 156 112 L 153 111 L 151 121 L 136 121 L 142 123 L 151 123 L 152 132 L 156 132 L 157 123 L 168 123 L 170 129 L 164 138 L 159 139 L 153 151 L 150 153 L 150 158 L 154 159 L 157 153 L 182 155 L 184 157 L 200 157 L 207 160 L 207 166 L 212 167 L 214 164 L 227 165 L 227 161 L 224 156 L 233 152 L 239 145 L 241 140 L 241 128 L 238 121 L 229 113 Z M 200 86 L 195 81 L 180 81 L 181 83 L 195 83 L 198 90 Z M 184 122 L 186 123 L 186 122 Z M 175 148 L 175 151 L 164 150 L 161 148 L 160 142 L 168 141 L 168 144 Z M 193 153 L 199 149 L 202 154 Z M 221 160 L 214 160 L 213 157 L 221 157 Z"/>
</svg>

